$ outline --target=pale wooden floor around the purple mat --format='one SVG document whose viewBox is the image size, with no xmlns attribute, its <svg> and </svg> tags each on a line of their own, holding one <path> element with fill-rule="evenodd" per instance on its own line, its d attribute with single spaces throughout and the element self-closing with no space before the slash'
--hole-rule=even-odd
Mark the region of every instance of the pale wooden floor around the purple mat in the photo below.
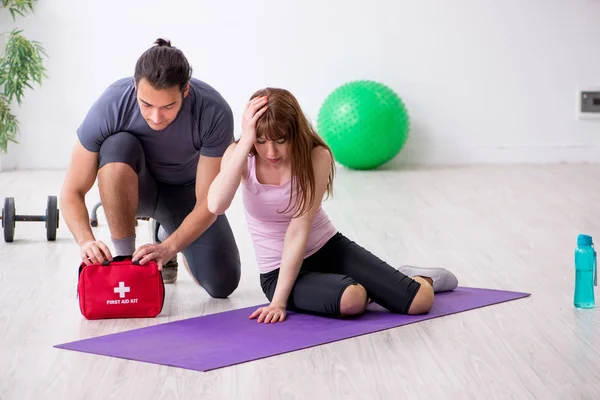
<svg viewBox="0 0 600 400">
<path fill-rule="evenodd" d="M 42 213 L 62 179 L 1 173 L 0 198 Z M 97 200 L 94 191 L 88 204 Z M 264 302 L 239 198 L 228 212 L 244 263 L 239 289 L 211 299 L 180 270 L 163 313 L 148 320 L 85 320 L 66 225 L 49 243 L 43 224 L 20 223 L 14 243 L 0 241 L 0 399 L 600 398 L 600 313 L 572 305 L 576 236 L 600 242 L 600 165 L 338 169 L 325 209 L 391 264 L 444 265 L 461 285 L 532 296 L 199 373 L 52 346 Z M 97 236 L 109 242 L 99 216 Z"/>
</svg>

